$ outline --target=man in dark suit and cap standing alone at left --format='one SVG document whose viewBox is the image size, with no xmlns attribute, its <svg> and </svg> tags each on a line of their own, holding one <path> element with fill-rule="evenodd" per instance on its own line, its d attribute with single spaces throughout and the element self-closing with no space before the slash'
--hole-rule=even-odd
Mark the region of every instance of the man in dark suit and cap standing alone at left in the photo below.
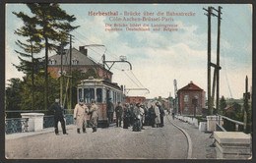
<svg viewBox="0 0 256 163">
<path fill-rule="evenodd" d="M 63 109 L 60 105 L 60 100 L 59 97 L 55 98 L 55 103 L 53 103 L 49 111 L 54 114 L 54 129 L 55 129 L 55 135 L 59 135 L 59 130 L 58 130 L 58 123 L 60 122 L 61 128 L 63 135 L 68 135 L 66 132 L 66 126 L 65 126 L 65 121 L 64 121 L 64 115 L 63 115 Z"/>
</svg>

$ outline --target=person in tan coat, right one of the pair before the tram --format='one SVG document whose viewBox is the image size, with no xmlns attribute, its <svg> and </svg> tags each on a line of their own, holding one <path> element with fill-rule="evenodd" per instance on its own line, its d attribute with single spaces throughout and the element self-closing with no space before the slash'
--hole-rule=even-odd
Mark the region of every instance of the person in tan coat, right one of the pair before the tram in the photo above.
<svg viewBox="0 0 256 163">
<path fill-rule="evenodd" d="M 93 129 L 93 133 L 96 132 L 97 127 L 97 119 L 98 119 L 98 107 L 96 106 L 96 100 L 92 99 L 92 105 L 89 111 L 89 114 L 91 114 L 90 124 Z"/>
</svg>

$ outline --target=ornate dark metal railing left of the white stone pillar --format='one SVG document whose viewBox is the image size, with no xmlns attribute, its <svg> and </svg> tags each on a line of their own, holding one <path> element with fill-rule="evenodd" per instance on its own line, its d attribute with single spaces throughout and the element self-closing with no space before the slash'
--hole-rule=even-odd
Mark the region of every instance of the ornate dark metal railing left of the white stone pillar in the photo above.
<svg viewBox="0 0 256 163">
<path fill-rule="evenodd" d="M 11 118 L 5 120 L 5 133 L 7 135 L 14 133 L 28 132 L 29 118 Z"/>
</svg>

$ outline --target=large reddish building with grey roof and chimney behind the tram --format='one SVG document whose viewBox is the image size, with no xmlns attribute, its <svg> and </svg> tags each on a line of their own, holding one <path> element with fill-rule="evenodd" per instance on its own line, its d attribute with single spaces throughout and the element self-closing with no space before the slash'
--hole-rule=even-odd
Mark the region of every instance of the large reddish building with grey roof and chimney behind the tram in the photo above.
<svg viewBox="0 0 256 163">
<path fill-rule="evenodd" d="M 72 48 L 71 70 L 81 70 L 82 73 L 95 71 L 100 79 L 112 81 L 112 73 L 106 70 L 102 64 L 97 64 L 88 56 L 88 50 L 84 46 L 80 46 L 79 50 Z M 70 70 L 70 50 L 64 50 L 62 56 L 63 74 Z M 49 57 L 48 72 L 53 77 L 59 77 L 61 74 L 61 54 L 56 54 Z"/>
</svg>

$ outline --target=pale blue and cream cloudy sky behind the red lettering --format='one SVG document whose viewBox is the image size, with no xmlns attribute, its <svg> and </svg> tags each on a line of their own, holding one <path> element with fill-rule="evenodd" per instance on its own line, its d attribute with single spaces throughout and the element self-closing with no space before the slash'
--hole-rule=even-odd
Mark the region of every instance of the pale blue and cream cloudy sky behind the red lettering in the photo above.
<svg viewBox="0 0 256 163">
<path fill-rule="evenodd" d="M 104 46 L 89 47 L 89 56 L 101 62 L 105 53 L 106 60 L 119 60 L 126 56 L 132 64 L 116 63 L 111 72 L 112 81 L 126 88 L 148 88 L 146 90 L 128 92 L 128 95 L 143 95 L 147 98 L 167 97 L 174 95 L 173 81 L 177 88 L 190 81 L 207 92 L 207 39 L 208 19 L 203 8 L 218 4 L 60 4 L 68 14 L 77 20 L 73 26 L 80 26 L 72 31 L 73 47 L 89 44 Z M 221 23 L 221 74 L 220 95 L 227 98 L 242 98 L 245 91 L 245 77 L 252 84 L 252 6 L 249 4 L 222 4 Z M 11 78 L 22 78 L 12 64 L 19 64 L 19 49 L 15 40 L 24 38 L 14 34 L 14 30 L 22 27 L 23 22 L 12 14 L 23 11 L 30 14 L 25 4 L 8 4 L 6 6 L 6 85 Z M 177 31 L 105 31 L 105 24 L 114 24 L 109 16 L 89 16 L 93 12 L 118 12 L 123 18 L 127 12 L 184 12 L 195 13 L 195 16 L 175 16 L 172 22 L 147 22 L 147 24 L 177 25 Z M 237 12 L 239 11 L 239 12 Z M 122 13 L 122 15 L 120 15 Z M 152 17 L 154 18 L 154 17 Z M 156 16 L 158 18 L 158 16 Z M 216 63 L 217 28 L 216 17 L 212 17 L 212 62 Z M 118 22 L 144 24 L 143 22 Z M 69 48 L 69 47 L 66 47 Z M 49 56 L 54 55 L 51 52 Z M 38 54 L 38 56 L 43 54 Z M 213 71 L 212 71 L 213 75 Z M 212 77 L 213 79 L 213 77 Z M 250 89 L 250 88 L 249 88 Z"/>
</svg>

